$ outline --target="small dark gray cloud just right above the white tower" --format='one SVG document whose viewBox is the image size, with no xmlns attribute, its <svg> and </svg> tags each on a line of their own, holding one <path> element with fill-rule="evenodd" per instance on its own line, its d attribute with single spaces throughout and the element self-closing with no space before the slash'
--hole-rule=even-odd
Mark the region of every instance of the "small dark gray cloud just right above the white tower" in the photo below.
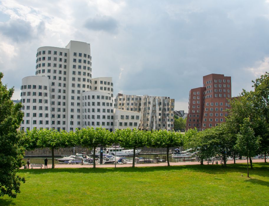
<svg viewBox="0 0 269 206">
<path fill-rule="evenodd" d="M 110 16 L 95 16 L 87 19 L 84 26 L 89 30 L 115 33 L 118 28 L 118 22 Z"/>
</svg>

